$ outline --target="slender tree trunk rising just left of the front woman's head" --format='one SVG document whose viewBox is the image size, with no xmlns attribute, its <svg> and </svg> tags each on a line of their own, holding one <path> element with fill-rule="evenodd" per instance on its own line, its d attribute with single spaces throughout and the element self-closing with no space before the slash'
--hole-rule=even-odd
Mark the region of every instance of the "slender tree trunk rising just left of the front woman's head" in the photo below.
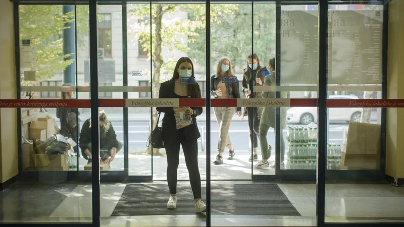
<svg viewBox="0 0 404 227">
<path fill-rule="evenodd" d="M 154 18 L 153 23 L 156 26 L 155 30 L 155 43 L 152 43 L 154 45 L 154 52 L 152 52 L 152 61 L 153 61 L 153 74 L 152 74 L 152 80 L 151 80 L 151 85 L 153 87 L 152 89 L 152 94 L 153 98 L 158 98 L 159 97 L 159 90 L 160 90 L 160 71 L 161 67 L 164 64 L 164 59 L 162 56 L 162 42 L 163 39 L 161 37 L 161 30 L 162 30 L 162 19 L 163 19 L 163 5 L 158 4 L 156 6 L 156 16 Z M 154 130 L 156 127 L 157 123 L 157 117 L 158 113 L 155 108 L 153 108 L 153 124 L 149 124 L 149 134 L 151 133 L 151 130 Z M 151 146 L 148 147 L 147 153 L 151 153 Z M 158 154 L 159 149 L 153 149 L 153 154 Z"/>
</svg>

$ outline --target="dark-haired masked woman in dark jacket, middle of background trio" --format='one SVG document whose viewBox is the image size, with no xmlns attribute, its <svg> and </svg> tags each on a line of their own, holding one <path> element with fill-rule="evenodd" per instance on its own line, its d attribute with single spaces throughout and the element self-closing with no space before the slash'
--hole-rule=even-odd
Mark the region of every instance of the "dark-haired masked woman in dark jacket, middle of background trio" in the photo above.
<svg viewBox="0 0 404 227">
<path fill-rule="evenodd" d="M 249 54 L 247 56 L 247 67 L 244 69 L 243 75 L 243 92 L 247 98 L 262 98 L 262 92 L 251 92 L 251 88 L 263 84 L 263 80 L 260 75 L 257 75 L 262 67 L 260 66 L 260 60 L 256 53 Z M 253 145 L 254 156 L 251 156 L 248 161 L 258 160 L 257 147 L 258 147 L 258 135 L 260 129 L 260 118 L 262 115 L 262 107 L 246 107 L 244 108 L 243 117 L 245 112 L 248 115 L 248 127 L 249 127 L 249 139 Z M 254 120 L 253 120 L 254 119 Z M 251 141 L 252 138 L 252 141 Z"/>
</svg>

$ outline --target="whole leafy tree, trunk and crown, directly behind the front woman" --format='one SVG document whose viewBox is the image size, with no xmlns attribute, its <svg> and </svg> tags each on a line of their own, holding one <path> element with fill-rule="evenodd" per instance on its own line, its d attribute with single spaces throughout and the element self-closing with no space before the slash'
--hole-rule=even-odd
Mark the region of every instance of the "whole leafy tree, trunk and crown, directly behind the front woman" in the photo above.
<svg viewBox="0 0 404 227">
<path fill-rule="evenodd" d="M 151 73 L 153 86 L 153 98 L 159 96 L 160 84 L 171 78 L 174 71 L 177 59 L 174 59 L 174 54 L 171 56 L 163 56 L 163 49 L 167 49 L 173 53 L 174 50 L 179 50 L 184 53 L 188 52 L 188 42 L 192 42 L 188 37 L 196 36 L 196 28 L 201 27 L 203 20 L 189 20 L 187 18 L 181 19 L 178 17 L 169 17 L 175 13 L 194 12 L 202 13 L 205 7 L 196 4 L 153 4 L 151 7 L 150 18 L 150 5 L 137 4 L 128 10 L 129 23 L 128 34 L 135 34 L 140 40 L 141 46 L 144 51 L 148 53 L 148 58 L 153 62 L 153 69 Z M 150 28 L 151 23 L 151 28 Z M 151 29 L 151 31 L 150 31 Z M 151 34 L 151 45 L 150 45 Z M 136 43 L 135 43 L 136 44 Z M 166 59 L 166 60 L 165 60 Z M 157 111 L 153 111 L 153 122 L 157 121 Z M 150 124 L 149 131 L 153 130 L 155 125 Z M 150 152 L 150 148 L 148 150 Z M 157 153 L 158 150 L 155 149 Z"/>
</svg>

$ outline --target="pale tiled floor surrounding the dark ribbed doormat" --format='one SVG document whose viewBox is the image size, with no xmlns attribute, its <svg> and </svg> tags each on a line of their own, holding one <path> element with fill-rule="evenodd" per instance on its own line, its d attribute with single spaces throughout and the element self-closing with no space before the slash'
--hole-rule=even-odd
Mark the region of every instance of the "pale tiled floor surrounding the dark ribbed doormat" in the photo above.
<svg viewBox="0 0 404 227">
<path fill-rule="evenodd" d="M 237 183 L 251 184 L 250 181 Z M 189 182 L 179 182 L 179 184 L 189 185 Z M 204 184 L 205 182 L 203 182 Z M 212 184 L 234 184 L 234 181 L 216 181 Z M 316 185 L 279 184 L 279 187 L 301 216 L 212 215 L 212 225 L 315 226 Z M 101 185 L 102 205 L 100 210 L 103 226 L 206 225 L 206 216 L 203 214 L 111 217 L 124 188 L 125 184 Z M 90 184 L 17 183 L 0 192 L 0 207 L 2 208 L 0 217 L 6 222 L 21 220 L 88 222 L 91 221 L 92 214 L 91 193 Z M 404 188 L 402 187 L 393 187 L 388 184 L 326 185 L 326 220 L 330 222 L 402 222 L 404 221 L 403 204 Z"/>
</svg>

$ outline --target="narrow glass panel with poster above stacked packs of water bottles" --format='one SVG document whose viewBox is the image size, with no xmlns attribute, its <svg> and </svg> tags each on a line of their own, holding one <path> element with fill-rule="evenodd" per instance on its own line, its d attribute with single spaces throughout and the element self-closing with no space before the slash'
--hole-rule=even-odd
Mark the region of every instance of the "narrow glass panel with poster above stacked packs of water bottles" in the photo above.
<svg viewBox="0 0 404 227">
<path fill-rule="evenodd" d="M 287 90 L 280 92 L 281 98 L 317 98 L 317 5 L 282 6 L 280 71 L 280 89 Z M 278 111 L 287 156 L 281 154 L 281 169 L 316 169 L 317 107 L 290 106 Z"/>
</svg>

